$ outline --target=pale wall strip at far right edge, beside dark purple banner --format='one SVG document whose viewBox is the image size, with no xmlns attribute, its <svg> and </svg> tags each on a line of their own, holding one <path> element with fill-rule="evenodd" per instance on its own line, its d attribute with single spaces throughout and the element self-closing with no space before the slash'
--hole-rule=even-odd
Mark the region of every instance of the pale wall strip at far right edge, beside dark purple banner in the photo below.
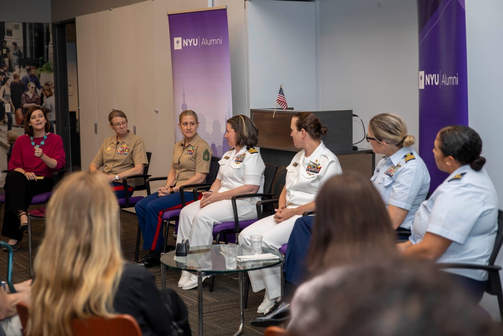
<svg viewBox="0 0 503 336">
<path fill-rule="evenodd" d="M 503 209 L 501 125 L 503 125 L 503 2 L 466 0 L 466 47 L 468 61 L 468 120 L 482 138 L 485 168 L 491 176 Z M 503 265 L 503 253 L 497 264 Z M 482 306 L 500 320 L 497 300 L 485 295 Z"/>
</svg>

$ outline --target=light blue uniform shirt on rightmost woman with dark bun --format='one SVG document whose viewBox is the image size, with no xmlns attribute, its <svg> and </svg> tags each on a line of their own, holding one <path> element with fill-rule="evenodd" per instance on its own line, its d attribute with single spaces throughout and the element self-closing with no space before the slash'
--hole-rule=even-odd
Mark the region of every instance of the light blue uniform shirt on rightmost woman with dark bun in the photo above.
<svg viewBox="0 0 503 336">
<path fill-rule="evenodd" d="M 452 244 L 437 262 L 486 265 L 496 239 L 498 197 L 485 169 L 475 171 L 464 165 L 449 177 L 417 210 L 412 224 L 412 244 L 421 242 L 426 232 Z M 449 269 L 447 272 L 487 280 L 487 272 Z"/>
</svg>

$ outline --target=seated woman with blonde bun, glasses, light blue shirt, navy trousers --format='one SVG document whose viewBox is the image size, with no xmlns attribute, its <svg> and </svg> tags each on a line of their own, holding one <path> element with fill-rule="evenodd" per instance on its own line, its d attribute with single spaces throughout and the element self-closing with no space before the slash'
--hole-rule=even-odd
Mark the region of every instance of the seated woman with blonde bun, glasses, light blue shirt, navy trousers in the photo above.
<svg viewBox="0 0 503 336">
<path fill-rule="evenodd" d="M 424 161 L 412 145 L 413 136 L 407 134 L 407 126 L 396 114 L 382 113 L 369 123 L 367 142 L 376 154 L 384 157 L 379 161 L 371 178 L 387 207 L 391 224 L 399 233 L 407 230 L 421 202 L 430 188 L 430 174 Z M 295 222 L 285 256 L 285 290 L 282 302 L 266 316 L 260 316 L 252 325 L 278 324 L 287 318 L 289 302 L 295 289 L 305 280 L 306 255 L 312 236 L 314 217 L 303 216 Z"/>
</svg>

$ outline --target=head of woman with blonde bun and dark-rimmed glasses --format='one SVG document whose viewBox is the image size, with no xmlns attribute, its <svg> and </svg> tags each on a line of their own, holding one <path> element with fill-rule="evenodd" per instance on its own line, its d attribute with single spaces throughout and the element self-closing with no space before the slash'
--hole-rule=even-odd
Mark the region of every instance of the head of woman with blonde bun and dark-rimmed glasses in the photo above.
<svg viewBox="0 0 503 336">
<path fill-rule="evenodd" d="M 398 148 L 409 147 L 415 143 L 414 136 L 407 134 L 405 121 L 393 113 L 381 113 L 372 117 L 369 131 L 377 142 L 385 142 Z"/>
</svg>

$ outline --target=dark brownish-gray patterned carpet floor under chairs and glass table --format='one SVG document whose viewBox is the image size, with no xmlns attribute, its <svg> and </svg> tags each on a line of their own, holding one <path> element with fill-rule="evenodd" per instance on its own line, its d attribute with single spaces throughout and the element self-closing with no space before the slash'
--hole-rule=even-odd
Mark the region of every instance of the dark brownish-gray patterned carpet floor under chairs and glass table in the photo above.
<svg viewBox="0 0 503 336">
<path fill-rule="evenodd" d="M 3 220 L 2 207 L 1 219 Z M 43 220 L 33 221 L 33 244 L 36 249 L 40 244 L 43 236 Z M 121 243 L 124 257 L 128 261 L 133 261 L 134 249 L 136 242 L 136 230 L 138 221 L 134 214 L 122 211 L 121 213 Z M 170 228 L 169 244 L 175 245 L 172 233 L 173 227 Z M 30 279 L 28 270 L 28 235 L 23 239 L 23 247 L 14 252 L 14 283 L 22 282 Z M 2 237 L 6 240 L 5 237 Z M 143 241 L 140 242 L 140 247 Z M 63 246 L 57 247 L 63 248 Z M 140 257 L 146 254 L 146 251 L 140 250 Z M 160 267 L 149 268 L 149 271 L 155 276 L 158 288 L 161 288 L 160 283 Z M 7 273 L 7 253 L 0 253 L 0 275 L 2 278 L 6 277 Z M 230 274 L 218 276 L 215 279 L 215 286 L 213 292 L 209 292 L 209 279 L 203 283 L 203 311 L 204 311 L 204 334 L 205 335 L 229 335 L 233 334 L 239 324 L 239 276 L 238 274 Z M 180 272 L 168 269 L 166 271 L 166 287 L 173 288 L 180 294 L 183 301 L 189 309 L 189 321 L 192 328 L 192 333 L 198 333 L 198 306 L 197 306 L 197 289 L 184 291 L 178 288 L 178 280 L 180 279 Z M 249 321 L 255 318 L 257 314 L 257 307 L 264 299 L 264 292 L 253 293 L 250 290 L 248 296 L 248 308 L 244 311 L 245 326 L 244 335 L 262 335 L 264 334 L 263 328 L 256 328 L 250 326 Z"/>
</svg>

